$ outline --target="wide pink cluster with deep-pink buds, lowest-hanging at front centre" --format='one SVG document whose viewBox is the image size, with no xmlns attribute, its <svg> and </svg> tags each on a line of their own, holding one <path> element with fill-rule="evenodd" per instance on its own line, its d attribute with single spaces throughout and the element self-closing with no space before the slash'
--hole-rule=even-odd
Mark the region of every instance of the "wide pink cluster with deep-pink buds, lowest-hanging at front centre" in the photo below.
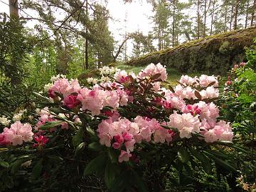
<svg viewBox="0 0 256 192">
<path fill-rule="evenodd" d="M 153 142 L 164 143 L 171 142 L 174 132 L 161 127 L 156 119 L 137 116 L 134 122 L 128 119 L 118 119 L 113 121 L 112 118 L 102 120 L 98 125 L 98 137 L 100 144 L 112 146 L 114 149 L 119 149 L 119 162 L 129 161 L 132 156 L 130 152 L 134 151 L 134 144 L 142 141 L 150 142 L 153 137 Z"/>
</svg>

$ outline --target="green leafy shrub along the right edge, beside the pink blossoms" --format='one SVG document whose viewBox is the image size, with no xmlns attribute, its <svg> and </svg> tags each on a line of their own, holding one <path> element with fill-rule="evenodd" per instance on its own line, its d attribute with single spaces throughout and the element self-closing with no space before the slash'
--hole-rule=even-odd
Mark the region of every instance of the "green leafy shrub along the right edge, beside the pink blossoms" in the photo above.
<svg viewBox="0 0 256 192">
<path fill-rule="evenodd" d="M 256 43 L 256 42 L 255 42 Z M 256 47 L 252 46 L 246 51 L 247 63 L 234 65 L 230 71 L 230 76 L 225 82 L 225 92 L 223 92 L 223 115 L 233 122 L 233 130 L 239 135 L 234 140 L 236 146 L 242 148 L 242 152 L 236 154 L 235 160 L 240 166 L 242 176 L 238 182 L 242 188 L 255 188 L 248 183 L 255 183 L 255 72 Z M 225 104 L 224 104 L 225 103 Z"/>
</svg>

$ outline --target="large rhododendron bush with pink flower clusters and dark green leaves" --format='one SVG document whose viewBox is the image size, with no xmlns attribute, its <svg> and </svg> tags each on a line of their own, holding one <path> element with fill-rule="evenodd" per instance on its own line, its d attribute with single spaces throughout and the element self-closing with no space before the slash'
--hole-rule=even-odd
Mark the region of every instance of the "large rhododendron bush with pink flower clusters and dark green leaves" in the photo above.
<svg viewBox="0 0 256 192">
<path fill-rule="evenodd" d="M 13 158 L 1 165 L 12 174 L 26 170 L 48 190 L 63 171 L 56 167 L 69 164 L 81 180 L 104 177 L 110 191 L 148 191 L 142 174 L 150 164 L 163 173 L 170 166 L 201 166 L 210 173 L 213 162 L 235 171 L 223 159 L 222 146 L 231 144 L 233 132 L 219 119 L 215 76 L 183 75 L 171 87 L 160 63 L 137 75 L 107 67 L 100 74 L 99 80 L 88 79 L 87 87 L 65 76 L 52 78 L 46 92 L 37 93 L 43 101 L 30 122 L 22 115 L 1 117 L 1 151 Z"/>
</svg>

